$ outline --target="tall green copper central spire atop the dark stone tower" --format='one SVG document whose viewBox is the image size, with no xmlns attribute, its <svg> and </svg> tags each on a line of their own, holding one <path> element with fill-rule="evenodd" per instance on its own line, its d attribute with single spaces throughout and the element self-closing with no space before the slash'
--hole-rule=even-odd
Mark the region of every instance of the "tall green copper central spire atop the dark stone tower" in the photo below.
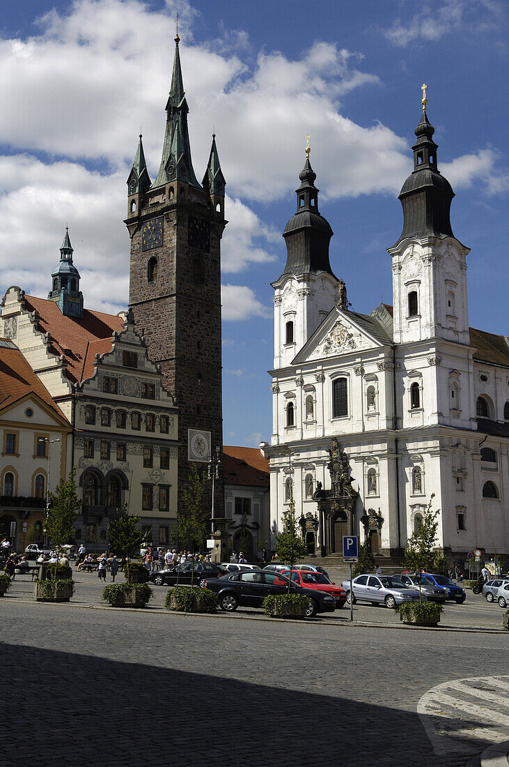
<svg viewBox="0 0 509 767">
<path fill-rule="evenodd" d="M 162 145 L 161 165 L 152 189 L 178 179 L 201 189 L 194 175 L 188 131 L 188 103 L 185 100 L 178 37 L 175 38 L 175 59 L 171 74 L 171 91 L 166 104 L 166 130 Z"/>
</svg>

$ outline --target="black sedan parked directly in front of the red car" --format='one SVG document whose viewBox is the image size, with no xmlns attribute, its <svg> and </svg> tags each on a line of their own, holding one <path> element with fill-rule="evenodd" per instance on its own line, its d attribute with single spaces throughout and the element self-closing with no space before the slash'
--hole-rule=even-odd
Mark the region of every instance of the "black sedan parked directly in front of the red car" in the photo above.
<svg viewBox="0 0 509 767">
<path fill-rule="evenodd" d="M 267 570 L 249 570 L 240 573 L 224 575 L 204 583 L 205 588 L 214 591 L 219 597 L 221 610 L 233 612 L 239 605 L 243 607 L 261 607 L 269 594 L 287 594 L 289 579 L 278 572 Z M 290 594 L 302 594 L 309 597 L 311 606 L 306 617 L 317 613 L 332 613 L 336 608 L 334 597 L 323 591 L 302 588 L 295 583 L 290 584 Z"/>
</svg>

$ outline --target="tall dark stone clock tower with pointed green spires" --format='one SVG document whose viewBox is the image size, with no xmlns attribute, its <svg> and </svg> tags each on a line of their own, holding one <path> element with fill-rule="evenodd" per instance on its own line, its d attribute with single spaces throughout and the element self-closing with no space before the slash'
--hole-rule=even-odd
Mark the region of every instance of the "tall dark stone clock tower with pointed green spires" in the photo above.
<svg viewBox="0 0 509 767">
<path fill-rule="evenodd" d="M 191 464 L 203 467 L 223 445 L 220 241 L 227 222 L 215 137 L 202 184 L 194 174 L 178 43 L 177 35 L 161 165 L 151 183 L 140 136 L 127 181 L 126 225 L 131 237 L 129 304 L 148 356 L 160 364 L 163 384 L 179 408 L 182 508 Z M 214 515 L 223 510 L 219 479 Z"/>
</svg>

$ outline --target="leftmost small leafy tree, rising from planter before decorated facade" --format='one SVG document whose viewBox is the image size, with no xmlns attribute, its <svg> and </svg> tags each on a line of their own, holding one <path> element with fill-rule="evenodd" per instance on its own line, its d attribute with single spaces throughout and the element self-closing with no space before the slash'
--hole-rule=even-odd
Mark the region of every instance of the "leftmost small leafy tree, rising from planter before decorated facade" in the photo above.
<svg viewBox="0 0 509 767">
<path fill-rule="evenodd" d="M 71 469 L 67 479 L 60 478 L 55 492 L 48 492 L 48 508 L 44 529 L 51 545 L 57 551 L 57 565 L 62 546 L 70 542 L 74 535 L 77 514 L 81 501 L 76 494 L 76 469 Z M 54 591 L 57 590 L 57 570 L 54 568 Z"/>
</svg>

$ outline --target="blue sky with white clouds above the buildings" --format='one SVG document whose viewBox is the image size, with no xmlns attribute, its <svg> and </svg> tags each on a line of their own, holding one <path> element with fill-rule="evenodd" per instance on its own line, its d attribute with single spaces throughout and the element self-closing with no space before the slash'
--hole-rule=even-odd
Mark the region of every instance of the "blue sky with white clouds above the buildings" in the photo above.
<svg viewBox="0 0 509 767">
<path fill-rule="evenodd" d="M 507 321 L 504 0 L 18 0 L 0 28 L 0 290 L 46 295 L 68 221 L 86 305 L 125 307 L 126 178 L 140 126 L 158 168 L 178 10 L 198 178 L 215 127 L 227 179 L 224 442 L 271 433 L 272 288 L 305 134 L 357 311 L 390 303 L 386 249 L 411 168 L 420 86 L 468 256 L 470 324 Z"/>
</svg>

